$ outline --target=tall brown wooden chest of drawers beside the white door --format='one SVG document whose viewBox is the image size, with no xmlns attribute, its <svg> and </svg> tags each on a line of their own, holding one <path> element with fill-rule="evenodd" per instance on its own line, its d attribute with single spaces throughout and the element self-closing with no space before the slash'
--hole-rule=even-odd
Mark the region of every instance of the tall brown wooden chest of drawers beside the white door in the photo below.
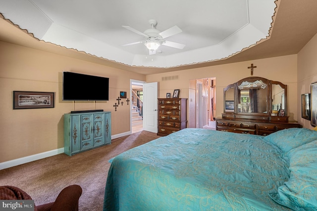
<svg viewBox="0 0 317 211">
<path fill-rule="evenodd" d="M 159 98 L 158 112 L 159 136 L 187 127 L 187 98 Z"/>
</svg>

